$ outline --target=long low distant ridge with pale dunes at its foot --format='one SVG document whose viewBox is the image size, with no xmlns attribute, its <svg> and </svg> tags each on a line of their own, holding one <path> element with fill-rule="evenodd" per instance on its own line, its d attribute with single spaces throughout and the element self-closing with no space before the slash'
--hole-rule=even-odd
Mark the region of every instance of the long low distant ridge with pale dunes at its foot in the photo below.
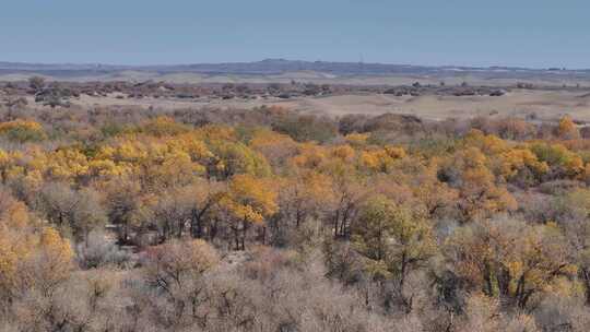
<svg viewBox="0 0 590 332">
<path fill-rule="evenodd" d="M 103 63 L 26 63 L 0 61 L 0 81 L 44 75 L 60 81 L 167 81 L 180 83 L 282 82 L 342 84 L 461 84 L 541 85 L 590 84 L 590 70 L 517 67 L 413 66 L 366 62 L 264 59 L 255 62 L 118 66 Z"/>
</svg>

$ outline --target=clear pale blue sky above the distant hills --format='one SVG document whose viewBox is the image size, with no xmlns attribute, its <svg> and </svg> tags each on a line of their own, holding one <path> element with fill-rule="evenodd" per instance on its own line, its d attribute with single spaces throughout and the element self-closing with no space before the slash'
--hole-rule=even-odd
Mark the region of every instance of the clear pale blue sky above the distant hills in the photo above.
<svg viewBox="0 0 590 332">
<path fill-rule="evenodd" d="M 0 61 L 590 68 L 587 0 L 0 0 Z"/>
</svg>

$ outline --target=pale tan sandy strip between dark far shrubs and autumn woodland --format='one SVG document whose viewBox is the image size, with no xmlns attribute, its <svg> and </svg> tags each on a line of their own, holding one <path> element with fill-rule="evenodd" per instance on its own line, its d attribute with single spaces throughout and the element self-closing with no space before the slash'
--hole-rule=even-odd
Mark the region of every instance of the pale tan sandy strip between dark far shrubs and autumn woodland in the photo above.
<svg viewBox="0 0 590 332">
<path fill-rule="evenodd" d="M 426 119 L 472 118 L 481 115 L 518 116 L 536 115 L 539 119 L 553 120 L 564 114 L 576 120 L 590 121 L 590 94 L 566 91 L 517 90 L 500 97 L 489 96 L 435 96 L 396 97 L 392 95 L 339 95 L 328 97 L 299 97 L 292 99 L 210 99 L 196 100 L 163 98 L 117 98 L 83 95 L 71 100 L 84 108 L 94 106 L 140 106 L 160 109 L 177 108 L 252 108 L 261 105 L 278 105 L 290 109 L 342 116 L 347 114 L 379 115 L 385 112 L 410 114 Z M 30 100 L 30 105 L 35 105 Z"/>
</svg>

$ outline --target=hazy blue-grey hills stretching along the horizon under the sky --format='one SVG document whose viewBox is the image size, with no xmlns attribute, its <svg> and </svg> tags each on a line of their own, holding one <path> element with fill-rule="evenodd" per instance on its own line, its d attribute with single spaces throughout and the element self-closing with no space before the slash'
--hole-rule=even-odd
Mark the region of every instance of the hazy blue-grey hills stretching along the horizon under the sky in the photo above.
<svg viewBox="0 0 590 332">
<path fill-rule="evenodd" d="M 547 82 L 590 82 L 590 70 L 566 69 L 527 69 L 509 67 L 427 67 L 408 64 L 362 63 L 362 62 L 328 62 L 298 61 L 285 59 L 267 59 L 256 62 L 231 63 L 194 63 L 172 66 L 113 66 L 99 63 L 20 63 L 0 61 L 0 80 L 4 76 L 26 78 L 33 74 L 46 75 L 57 80 L 117 80 L 128 79 L 125 73 L 145 73 L 153 79 L 166 79 L 166 75 L 178 78 L 178 74 L 198 74 L 206 76 L 281 76 L 293 78 L 314 76 L 319 73 L 322 79 L 353 78 L 415 78 L 444 80 L 446 78 L 471 78 L 486 80 L 542 80 Z M 307 72 L 307 74 L 302 74 Z M 141 76 L 145 76 L 141 75 Z M 227 79 L 231 80 L 231 79 Z"/>
</svg>

